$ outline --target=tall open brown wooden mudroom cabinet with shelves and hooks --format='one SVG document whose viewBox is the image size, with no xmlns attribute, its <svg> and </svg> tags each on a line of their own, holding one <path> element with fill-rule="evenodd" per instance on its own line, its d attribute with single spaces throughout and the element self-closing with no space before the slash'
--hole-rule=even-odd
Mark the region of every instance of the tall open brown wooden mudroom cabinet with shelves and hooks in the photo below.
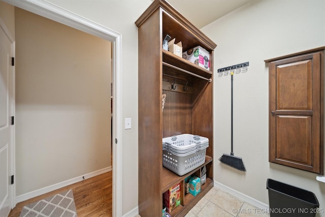
<svg viewBox="0 0 325 217">
<path fill-rule="evenodd" d="M 139 37 L 139 213 L 161 216 L 163 194 L 181 184 L 181 205 L 170 214 L 184 216 L 213 187 L 213 51 L 216 44 L 164 0 L 155 0 L 135 22 Z M 209 70 L 163 49 L 166 35 L 182 42 L 183 52 L 201 46 L 210 53 Z M 166 103 L 162 109 L 162 96 Z M 162 140 L 179 134 L 209 139 L 204 165 L 179 176 L 163 167 Z M 184 179 L 201 175 L 197 196 L 185 194 Z"/>
</svg>

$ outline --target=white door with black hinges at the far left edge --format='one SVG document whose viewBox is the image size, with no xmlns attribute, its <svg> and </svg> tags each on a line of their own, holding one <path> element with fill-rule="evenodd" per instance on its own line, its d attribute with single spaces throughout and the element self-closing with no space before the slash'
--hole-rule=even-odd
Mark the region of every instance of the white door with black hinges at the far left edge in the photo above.
<svg viewBox="0 0 325 217">
<path fill-rule="evenodd" d="M 13 204 L 13 42 L 0 20 L 0 216 L 8 216 Z M 7 33 L 7 34 L 6 34 Z"/>
</svg>

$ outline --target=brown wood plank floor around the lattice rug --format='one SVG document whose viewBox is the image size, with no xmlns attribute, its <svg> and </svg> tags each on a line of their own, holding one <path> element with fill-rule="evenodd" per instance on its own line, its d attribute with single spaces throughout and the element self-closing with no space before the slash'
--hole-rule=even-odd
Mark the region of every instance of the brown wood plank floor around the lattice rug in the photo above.
<svg viewBox="0 0 325 217">
<path fill-rule="evenodd" d="M 112 171 L 85 179 L 67 187 L 17 203 L 9 217 L 19 217 L 23 206 L 72 189 L 78 217 L 112 216 Z"/>
</svg>

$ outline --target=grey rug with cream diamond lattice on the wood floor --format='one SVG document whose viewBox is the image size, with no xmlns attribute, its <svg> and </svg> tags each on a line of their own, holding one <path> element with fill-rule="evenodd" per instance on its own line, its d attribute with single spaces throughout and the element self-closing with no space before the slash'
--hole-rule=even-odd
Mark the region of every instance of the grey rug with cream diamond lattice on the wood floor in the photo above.
<svg viewBox="0 0 325 217">
<path fill-rule="evenodd" d="M 72 190 L 24 206 L 20 217 L 77 217 Z"/>
</svg>

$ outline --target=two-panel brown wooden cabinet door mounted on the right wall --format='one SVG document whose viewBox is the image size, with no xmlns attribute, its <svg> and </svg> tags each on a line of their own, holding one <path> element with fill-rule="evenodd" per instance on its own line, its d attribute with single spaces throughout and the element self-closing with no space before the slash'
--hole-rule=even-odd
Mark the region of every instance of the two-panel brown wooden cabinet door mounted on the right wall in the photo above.
<svg viewBox="0 0 325 217">
<path fill-rule="evenodd" d="M 269 65 L 269 162 L 323 173 L 321 52 Z"/>
</svg>

